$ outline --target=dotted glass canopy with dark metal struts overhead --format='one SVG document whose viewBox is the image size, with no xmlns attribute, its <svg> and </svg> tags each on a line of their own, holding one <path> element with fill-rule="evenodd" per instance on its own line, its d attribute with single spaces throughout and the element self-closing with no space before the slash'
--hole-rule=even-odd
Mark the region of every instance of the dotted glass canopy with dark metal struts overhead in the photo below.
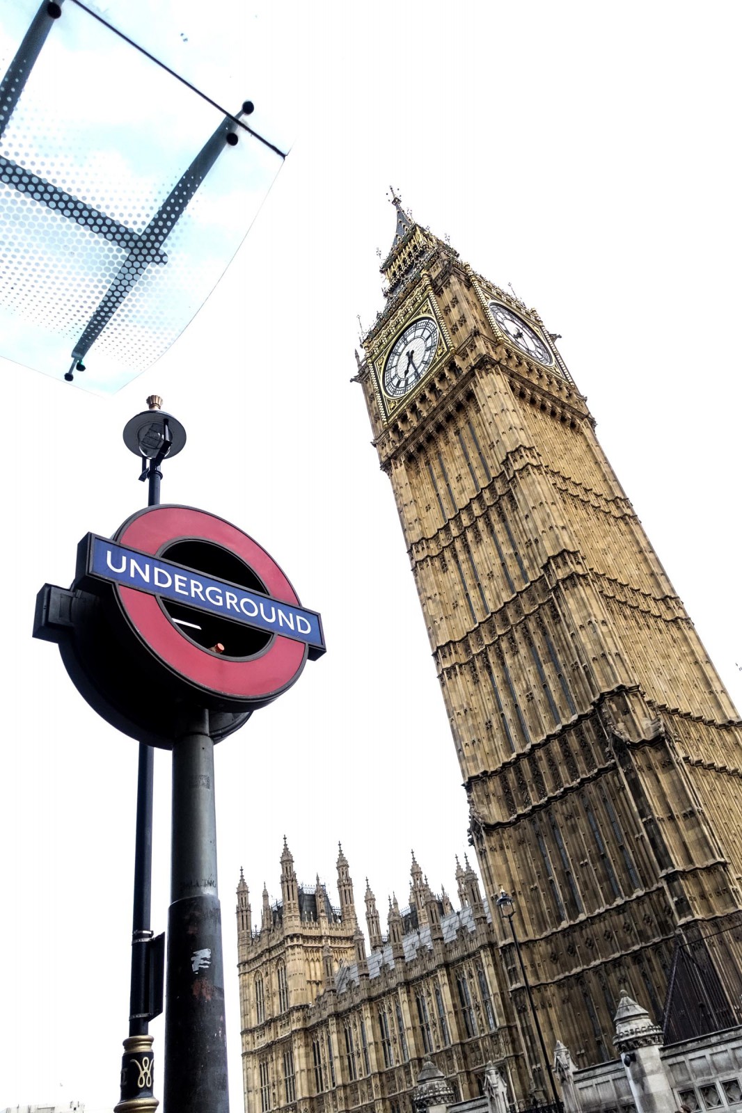
<svg viewBox="0 0 742 1113">
<path fill-rule="evenodd" d="M 188 4 L 154 11 L 0 8 L 0 355 L 102 394 L 198 312 L 292 138 L 257 16 L 194 4 L 188 26 Z"/>
</svg>

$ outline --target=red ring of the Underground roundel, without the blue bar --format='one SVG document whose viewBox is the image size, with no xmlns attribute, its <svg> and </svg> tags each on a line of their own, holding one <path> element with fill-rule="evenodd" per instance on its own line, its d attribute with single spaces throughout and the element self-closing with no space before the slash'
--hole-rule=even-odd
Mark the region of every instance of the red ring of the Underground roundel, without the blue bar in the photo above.
<svg viewBox="0 0 742 1113">
<path fill-rule="evenodd" d="M 153 506 L 125 523 L 116 541 L 154 556 L 163 545 L 179 538 L 197 538 L 222 545 L 242 558 L 274 599 L 300 605 L 286 577 L 256 541 L 203 510 Z M 270 699 L 296 680 L 306 660 L 306 646 L 277 634 L 261 657 L 250 661 L 225 660 L 185 638 L 166 617 L 155 595 L 118 584 L 115 590 L 124 613 L 149 649 L 177 673 L 211 692 L 246 701 Z"/>
</svg>

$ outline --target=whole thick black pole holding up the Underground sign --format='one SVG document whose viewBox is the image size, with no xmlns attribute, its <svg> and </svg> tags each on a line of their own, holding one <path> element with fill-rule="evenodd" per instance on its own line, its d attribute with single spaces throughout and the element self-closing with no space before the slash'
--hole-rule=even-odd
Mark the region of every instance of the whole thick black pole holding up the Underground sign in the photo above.
<svg viewBox="0 0 742 1113">
<path fill-rule="evenodd" d="M 188 713 L 173 746 L 170 902 L 165 1109 L 228 1113 L 214 741 L 206 710 Z"/>
</svg>

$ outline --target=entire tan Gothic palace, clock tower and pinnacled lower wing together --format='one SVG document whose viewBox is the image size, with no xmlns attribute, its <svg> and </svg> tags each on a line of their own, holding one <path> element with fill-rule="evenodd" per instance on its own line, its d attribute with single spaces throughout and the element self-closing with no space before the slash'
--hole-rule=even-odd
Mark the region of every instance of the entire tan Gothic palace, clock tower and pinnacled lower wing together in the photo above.
<svg viewBox="0 0 742 1113">
<path fill-rule="evenodd" d="M 548 1101 L 538 1027 L 579 1067 L 614 1060 L 626 992 L 666 1042 L 742 1023 L 742 723 L 555 337 L 393 203 L 357 382 L 481 887 L 459 865 L 453 908 L 413 856 L 383 932 L 367 883 L 367 949 L 342 849 L 338 906 L 285 845 L 260 927 L 241 878 L 248 1113 L 411 1113 L 426 1060 L 455 1101 L 488 1064 L 511 1103 Z"/>
</svg>

